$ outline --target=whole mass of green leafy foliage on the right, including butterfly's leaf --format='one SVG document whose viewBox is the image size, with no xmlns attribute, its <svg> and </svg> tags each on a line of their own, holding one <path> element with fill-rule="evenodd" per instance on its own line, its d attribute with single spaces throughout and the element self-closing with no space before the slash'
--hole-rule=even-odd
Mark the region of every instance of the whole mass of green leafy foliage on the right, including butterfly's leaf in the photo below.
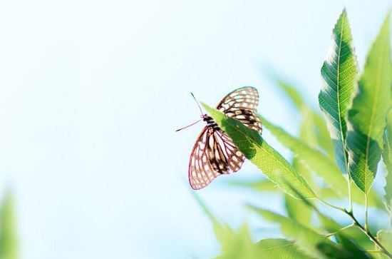
<svg viewBox="0 0 392 259">
<path fill-rule="evenodd" d="M 284 194 L 285 213 L 249 206 L 264 220 L 279 225 L 284 236 L 267 239 L 251 236 L 252 228 L 247 224 L 232 230 L 220 223 L 197 198 L 220 240 L 222 254 L 218 258 L 392 258 L 392 230 L 382 229 L 389 221 L 392 228 L 389 22 L 388 15 L 358 80 L 346 11 L 339 16 L 331 49 L 321 67 L 319 104 L 326 123 L 296 88 L 274 78 L 302 116 L 299 135 L 287 133 L 262 115 L 259 118 L 263 127 L 292 151 L 291 163 L 257 131 L 203 103 L 239 151 L 267 176 L 257 181 L 232 181 L 229 186 Z M 383 197 L 380 190 L 371 188 L 381 155 L 387 171 Z M 338 199 L 349 201 L 349 208 L 331 204 Z M 355 211 L 353 201 L 360 205 Z M 265 202 L 261 197 L 261 203 Z M 377 208 L 371 218 L 369 205 Z M 356 218 L 358 214 L 365 215 L 363 222 Z"/>
</svg>

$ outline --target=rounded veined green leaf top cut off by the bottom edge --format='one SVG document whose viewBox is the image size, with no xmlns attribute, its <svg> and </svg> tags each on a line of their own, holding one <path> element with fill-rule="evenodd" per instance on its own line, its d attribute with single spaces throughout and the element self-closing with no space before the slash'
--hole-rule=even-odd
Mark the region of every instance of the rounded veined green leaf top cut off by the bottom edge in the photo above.
<svg viewBox="0 0 392 259">
<path fill-rule="evenodd" d="M 315 258 L 304 253 L 294 241 L 283 238 L 268 238 L 259 240 L 254 244 L 253 258 L 285 258 L 285 259 L 311 259 Z M 243 258 L 243 257 L 239 257 Z"/>
</svg>

